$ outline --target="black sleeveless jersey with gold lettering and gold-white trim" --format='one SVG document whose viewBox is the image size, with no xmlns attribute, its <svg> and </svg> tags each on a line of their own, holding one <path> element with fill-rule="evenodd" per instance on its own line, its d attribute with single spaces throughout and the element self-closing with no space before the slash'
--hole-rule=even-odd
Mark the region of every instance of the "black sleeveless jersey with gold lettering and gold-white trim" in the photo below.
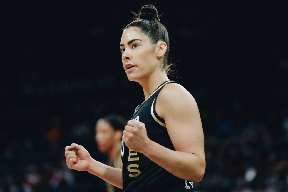
<svg viewBox="0 0 288 192">
<path fill-rule="evenodd" d="M 147 135 L 152 141 L 175 151 L 166 130 L 165 121 L 163 118 L 160 118 L 155 111 L 156 98 L 163 86 L 168 83 L 178 82 L 169 80 L 158 86 L 143 103 L 136 107 L 131 119 L 136 119 L 145 123 Z M 151 161 L 143 153 L 131 151 L 123 142 L 123 136 L 121 158 L 123 162 L 122 177 L 124 192 L 153 192 L 160 190 L 165 192 L 194 191 L 192 181 L 187 181 L 174 176 Z"/>
</svg>

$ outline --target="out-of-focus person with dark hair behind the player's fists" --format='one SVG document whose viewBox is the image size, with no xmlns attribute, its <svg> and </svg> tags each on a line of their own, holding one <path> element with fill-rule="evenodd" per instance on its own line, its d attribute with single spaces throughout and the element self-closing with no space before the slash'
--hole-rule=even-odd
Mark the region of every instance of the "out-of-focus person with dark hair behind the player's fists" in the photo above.
<svg viewBox="0 0 288 192">
<path fill-rule="evenodd" d="M 95 125 L 95 141 L 101 153 L 108 156 L 106 165 L 122 168 L 121 138 L 127 121 L 118 115 L 107 115 L 100 118 Z M 107 192 L 123 191 L 105 182 Z"/>
</svg>

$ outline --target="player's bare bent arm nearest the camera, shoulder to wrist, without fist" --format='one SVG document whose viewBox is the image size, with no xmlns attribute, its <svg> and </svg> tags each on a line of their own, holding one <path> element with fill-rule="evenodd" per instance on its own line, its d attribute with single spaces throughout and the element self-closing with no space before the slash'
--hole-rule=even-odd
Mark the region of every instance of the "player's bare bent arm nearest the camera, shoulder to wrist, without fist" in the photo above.
<svg viewBox="0 0 288 192">
<path fill-rule="evenodd" d="M 143 154 L 179 178 L 201 181 L 206 167 L 204 133 L 195 99 L 179 84 L 167 84 L 155 110 L 165 120 L 176 151 L 150 140 Z"/>
</svg>

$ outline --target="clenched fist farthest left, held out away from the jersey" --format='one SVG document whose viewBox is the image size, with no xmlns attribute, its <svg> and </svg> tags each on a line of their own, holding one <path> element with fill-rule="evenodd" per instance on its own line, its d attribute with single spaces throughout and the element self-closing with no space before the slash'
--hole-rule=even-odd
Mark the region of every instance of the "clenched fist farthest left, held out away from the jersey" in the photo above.
<svg viewBox="0 0 288 192">
<path fill-rule="evenodd" d="M 66 165 L 69 169 L 87 171 L 90 166 L 91 156 L 81 145 L 72 143 L 65 147 Z"/>
</svg>

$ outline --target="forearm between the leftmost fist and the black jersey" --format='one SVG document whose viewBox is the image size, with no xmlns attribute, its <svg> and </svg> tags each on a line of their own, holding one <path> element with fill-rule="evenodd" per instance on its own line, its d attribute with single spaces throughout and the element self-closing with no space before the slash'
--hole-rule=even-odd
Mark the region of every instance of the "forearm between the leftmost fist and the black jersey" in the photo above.
<svg viewBox="0 0 288 192">
<path fill-rule="evenodd" d="M 114 168 L 93 159 L 87 170 L 89 173 L 123 189 L 122 169 Z"/>
</svg>

